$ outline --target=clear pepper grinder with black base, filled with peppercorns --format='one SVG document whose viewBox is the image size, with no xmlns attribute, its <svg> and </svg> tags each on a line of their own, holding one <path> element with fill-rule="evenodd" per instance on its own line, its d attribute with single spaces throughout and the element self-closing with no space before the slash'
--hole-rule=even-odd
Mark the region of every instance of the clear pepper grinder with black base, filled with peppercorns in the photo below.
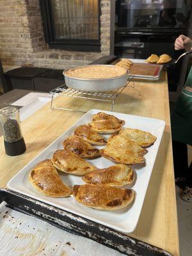
<svg viewBox="0 0 192 256">
<path fill-rule="evenodd" d="M 26 144 L 20 129 L 19 109 L 8 106 L 0 109 L 3 128 L 4 149 L 8 156 L 18 156 L 26 151 Z"/>
</svg>

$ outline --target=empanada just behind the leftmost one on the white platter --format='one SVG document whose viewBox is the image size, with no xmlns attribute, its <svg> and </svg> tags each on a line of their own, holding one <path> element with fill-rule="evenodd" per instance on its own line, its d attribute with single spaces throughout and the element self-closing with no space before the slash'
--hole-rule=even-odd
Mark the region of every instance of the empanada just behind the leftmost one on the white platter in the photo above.
<svg viewBox="0 0 192 256">
<path fill-rule="evenodd" d="M 86 175 L 95 171 L 96 167 L 86 162 L 70 150 L 56 150 L 52 156 L 52 164 L 61 172 L 74 175 Z"/>
</svg>

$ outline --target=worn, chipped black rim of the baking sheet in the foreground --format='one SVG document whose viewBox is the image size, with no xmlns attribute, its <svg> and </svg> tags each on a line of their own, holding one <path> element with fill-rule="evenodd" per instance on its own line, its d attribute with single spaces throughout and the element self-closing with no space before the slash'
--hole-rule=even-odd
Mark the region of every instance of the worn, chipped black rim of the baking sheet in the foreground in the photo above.
<svg viewBox="0 0 192 256">
<path fill-rule="evenodd" d="M 0 204 L 1 202 L 6 202 L 8 207 L 16 211 L 35 216 L 36 218 L 44 220 L 67 232 L 92 239 L 93 241 L 112 248 L 123 255 L 172 256 L 172 254 L 166 252 L 166 250 L 144 243 L 138 239 L 105 227 L 104 225 L 87 220 L 76 214 L 63 211 L 57 207 L 45 204 L 44 202 L 40 202 L 9 189 L 0 189 Z M 5 212 L 3 218 L 6 218 L 6 213 L 8 213 L 8 211 Z M 88 246 L 88 243 L 86 243 L 86 241 L 84 242 L 84 244 Z"/>
</svg>

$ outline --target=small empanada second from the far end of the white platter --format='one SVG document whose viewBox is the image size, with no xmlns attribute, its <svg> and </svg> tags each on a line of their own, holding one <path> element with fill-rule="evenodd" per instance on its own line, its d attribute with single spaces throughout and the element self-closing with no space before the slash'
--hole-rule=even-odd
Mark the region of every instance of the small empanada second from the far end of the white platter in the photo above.
<svg viewBox="0 0 192 256">
<path fill-rule="evenodd" d="M 88 124 L 88 126 L 98 133 L 114 133 L 122 129 L 122 124 L 118 124 L 113 120 L 97 120 Z"/>
</svg>

